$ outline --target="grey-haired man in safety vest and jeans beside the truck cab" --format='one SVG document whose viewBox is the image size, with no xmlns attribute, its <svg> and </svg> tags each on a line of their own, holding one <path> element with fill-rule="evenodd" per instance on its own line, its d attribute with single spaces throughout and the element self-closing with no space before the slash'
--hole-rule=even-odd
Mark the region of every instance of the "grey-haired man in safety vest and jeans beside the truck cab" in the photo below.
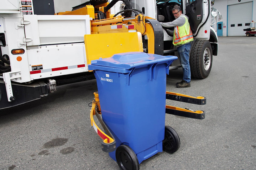
<svg viewBox="0 0 256 170">
<path fill-rule="evenodd" d="M 175 20 L 173 22 L 162 23 L 162 27 L 175 27 L 174 31 L 169 30 L 168 32 L 173 33 L 173 45 L 176 46 L 179 60 L 183 69 L 183 79 L 181 82 L 177 82 L 178 88 L 190 87 L 191 72 L 189 65 L 189 52 L 191 48 L 191 41 L 193 41 L 193 34 L 190 29 L 188 17 L 182 14 L 181 7 L 175 5 L 172 9 Z"/>
</svg>

